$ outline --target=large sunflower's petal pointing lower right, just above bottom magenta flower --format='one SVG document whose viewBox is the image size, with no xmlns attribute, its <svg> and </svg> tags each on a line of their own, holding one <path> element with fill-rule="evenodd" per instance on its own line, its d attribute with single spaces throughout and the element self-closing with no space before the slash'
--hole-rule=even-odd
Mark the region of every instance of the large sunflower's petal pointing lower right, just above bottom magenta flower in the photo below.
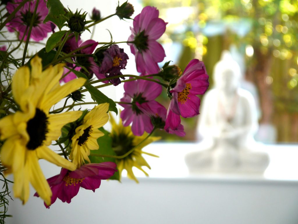
<svg viewBox="0 0 298 224">
<path fill-rule="evenodd" d="M 76 169 L 75 164 L 61 157 L 60 155 L 49 149 L 47 146 L 38 147 L 37 149 L 35 149 L 35 151 L 39 159 L 45 159 L 50 163 L 54 163 L 57 166 L 61 166 L 71 171 Z"/>
</svg>

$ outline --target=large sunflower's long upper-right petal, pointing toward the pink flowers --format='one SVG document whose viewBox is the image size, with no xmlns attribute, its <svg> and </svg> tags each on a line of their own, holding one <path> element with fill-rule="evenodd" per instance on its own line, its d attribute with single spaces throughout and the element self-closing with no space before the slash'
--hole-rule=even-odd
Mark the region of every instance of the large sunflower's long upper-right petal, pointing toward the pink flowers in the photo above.
<svg viewBox="0 0 298 224">
<path fill-rule="evenodd" d="M 48 94 L 44 95 L 44 98 L 41 100 L 39 104 L 39 108 L 43 109 L 44 111 L 49 111 L 51 106 L 59 102 L 68 94 L 74 92 L 75 90 L 83 86 L 85 82 L 86 79 L 77 78 L 69 81 L 68 83 L 64 84 L 63 86 L 60 86 L 59 88 L 56 88 L 54 91 L 51 91 Z"/>
</svg>

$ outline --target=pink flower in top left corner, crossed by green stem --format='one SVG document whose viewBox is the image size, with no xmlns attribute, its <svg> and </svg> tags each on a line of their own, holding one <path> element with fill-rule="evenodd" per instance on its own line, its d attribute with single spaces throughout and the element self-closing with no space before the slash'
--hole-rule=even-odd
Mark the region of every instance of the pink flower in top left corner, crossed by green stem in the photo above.
<svg viewBox="0 0 298 224">
<path fill-rule="evenodd" d="M 8 2 L 6 6 L 7 12 L 12 13 L 21 2 L 22 0 L 15 0 L 14 3 Z M 14 32 L 15 30 L 19 32 L 18 38 L 20 40 L 23 38 L 23 36 L 24 40 L 27 40 L 28 30 L 35 4 L 36 0 L 26 2 L 24 6 L 18 10 L 14 18 L 6 24 L 9 32 Z M 52 32 L 51 23 L 49 21 L 45 24 L 43 23 L 48 12 L 49 10 L 46 7 L 46 1 L 39 1 L 30 35 L 30 37 L 35 41 L 40 41 L 46 38 L 47 34 Z"/>
</svg>

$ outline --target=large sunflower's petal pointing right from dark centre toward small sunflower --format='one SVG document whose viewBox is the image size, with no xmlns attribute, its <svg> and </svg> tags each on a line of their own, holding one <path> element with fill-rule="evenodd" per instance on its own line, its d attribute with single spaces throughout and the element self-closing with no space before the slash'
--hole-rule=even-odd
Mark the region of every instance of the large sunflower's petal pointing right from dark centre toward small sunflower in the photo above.
<svg viewBox="0 0 298 224">
<path fill-rule="evenodd" d="M 46 134 L 45 145 L 50 145 L 53 140 L 57 140 L 61 135 L 61 128 L 72 121 L 77 120 L 81 115 L 82 111 L 69 111 L 61 114 L 50 114 L 48 116 L 49 126 L 48 133 Z"/>
</svg>

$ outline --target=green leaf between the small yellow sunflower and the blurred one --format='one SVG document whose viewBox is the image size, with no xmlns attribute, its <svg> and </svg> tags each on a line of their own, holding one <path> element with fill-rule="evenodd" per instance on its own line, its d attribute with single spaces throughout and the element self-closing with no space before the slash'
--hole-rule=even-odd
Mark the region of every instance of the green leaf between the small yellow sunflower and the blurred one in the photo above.
<svg viewBox="0 0 298 224">
<path fill-rule="evenodd" d="M 116 155 L 114 150 L 112 149 L 112 138 L 110 133 L 103 129 L 103 127 L 99 128 L 101 132 L 105 135 L 97 139 L 97 143 L 99 145 L 99 149 L 92 150 L 92 154 L 104 154 L 104 155 Z M 89 156 L 91 163 L 102 163 L 102 162 L 114 162 L 116 161 L 115 158 L 110 157 L 99 157 L 99 156 Z M 111 180 L 119 180 L 119 172 L 115 172 L 115 174 L 110 177 Z"/>
</svg>

